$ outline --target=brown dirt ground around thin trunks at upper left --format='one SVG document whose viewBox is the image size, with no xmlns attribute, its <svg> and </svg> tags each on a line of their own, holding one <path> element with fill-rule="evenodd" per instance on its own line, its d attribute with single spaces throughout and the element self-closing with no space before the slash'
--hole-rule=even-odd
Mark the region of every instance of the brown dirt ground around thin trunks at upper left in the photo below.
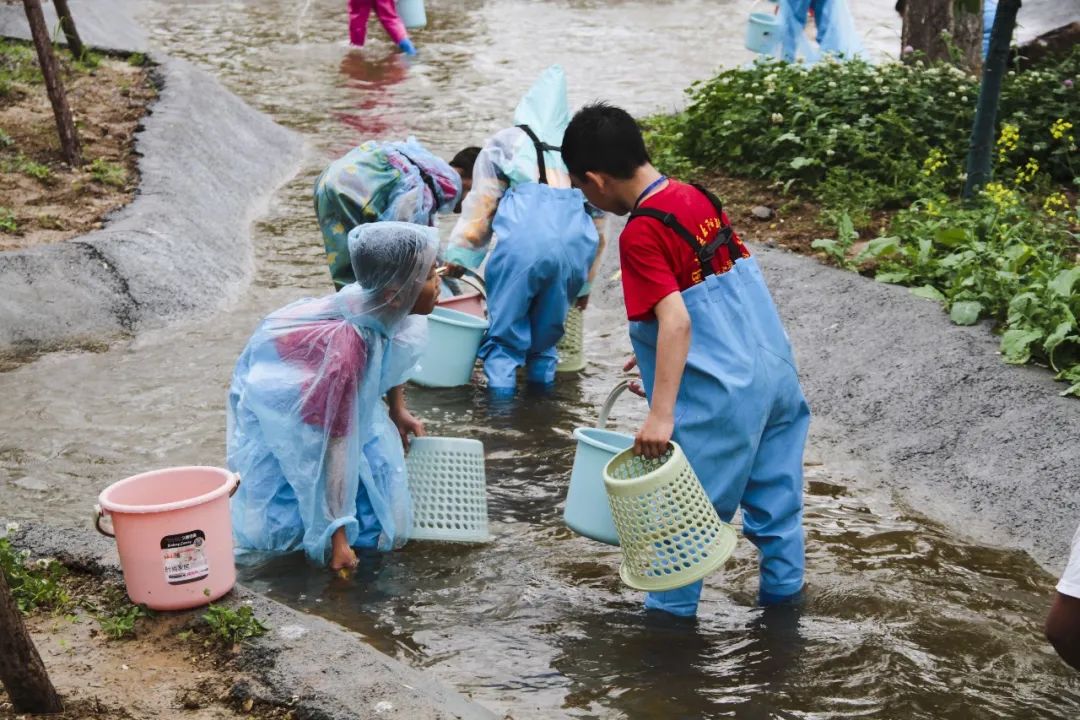
<svg viewBox="0 0 1080 720">
<path fill-rule="evenodd" d="M 78 168 L 63 160 L 32 46 L 0 40 L 0 250 L 100 228 L 138 185 L 134 134 L 157 97 L 145 59 L 58 57 L 82 144 Z"/>
</svg>

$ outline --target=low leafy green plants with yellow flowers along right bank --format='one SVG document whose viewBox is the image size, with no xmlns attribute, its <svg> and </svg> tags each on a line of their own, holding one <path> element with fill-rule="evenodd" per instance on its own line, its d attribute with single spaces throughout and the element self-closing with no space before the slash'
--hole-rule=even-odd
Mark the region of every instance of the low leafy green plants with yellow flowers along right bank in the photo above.
<svg viewBox="0 0 1080 720">
<path fill-rule="evenodd" d="M 896 215 L 856 262 L 941 301 L 954 323 L 993 321 L 1005 362 L 1045 363 L 1080 397 L 1080 213 L 1039 212 L 1000 184 L 975 206 L 939 199 Z"/>
</svg>

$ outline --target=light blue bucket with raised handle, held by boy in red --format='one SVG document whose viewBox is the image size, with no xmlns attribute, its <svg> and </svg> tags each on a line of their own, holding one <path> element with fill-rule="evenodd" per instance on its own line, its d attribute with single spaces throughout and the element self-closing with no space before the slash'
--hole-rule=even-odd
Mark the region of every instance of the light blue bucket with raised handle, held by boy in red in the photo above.
<svg viewBox="0 0 1080 720">
<path fill-rule="evenodd" d="M 611 458 L 634 445 L 634 438 L 623 433 L 604 430 L 615 400 L 626 390 L 629 383 L 620 382 L 608 395 L 597 427 L 578 427 L 573 438 L 578 450 L 573 456 L 573 471 L 570 487 L 566 492 L 566 508 L 563 520 L 566 526 L 591 540 L 608 545 L 619 544 L 619 533 L 611 519 L 611 505 L 604 487 L 604 466 Z"/>
</svg>

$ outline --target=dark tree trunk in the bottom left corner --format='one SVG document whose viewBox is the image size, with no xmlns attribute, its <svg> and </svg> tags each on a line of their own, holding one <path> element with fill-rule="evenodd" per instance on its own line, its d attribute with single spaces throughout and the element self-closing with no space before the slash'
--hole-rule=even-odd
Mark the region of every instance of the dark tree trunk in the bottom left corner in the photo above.
<svg viewBox="0 0 1080 720">
<path fill-rule="evenodd" d="M 16 712 L 64 711 L 3 572 L 0 572 L 0 682 Z"/>
</svg>

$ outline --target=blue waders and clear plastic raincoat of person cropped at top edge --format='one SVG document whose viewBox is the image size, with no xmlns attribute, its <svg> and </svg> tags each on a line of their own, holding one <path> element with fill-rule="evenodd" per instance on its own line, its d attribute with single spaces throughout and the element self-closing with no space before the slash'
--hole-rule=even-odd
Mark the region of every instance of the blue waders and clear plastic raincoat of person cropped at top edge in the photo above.
<svg viewBox="0 0 1080 720">
<path fill-rule="evenodd" d="M 807 15 L 813 11 L 816 44 L 806 37 Z M 847 0 L 781 0 L 780 56 L 816 63 L 825 55 L 850 59 L 863 55 L 863 42 Z"/>
</svg>

